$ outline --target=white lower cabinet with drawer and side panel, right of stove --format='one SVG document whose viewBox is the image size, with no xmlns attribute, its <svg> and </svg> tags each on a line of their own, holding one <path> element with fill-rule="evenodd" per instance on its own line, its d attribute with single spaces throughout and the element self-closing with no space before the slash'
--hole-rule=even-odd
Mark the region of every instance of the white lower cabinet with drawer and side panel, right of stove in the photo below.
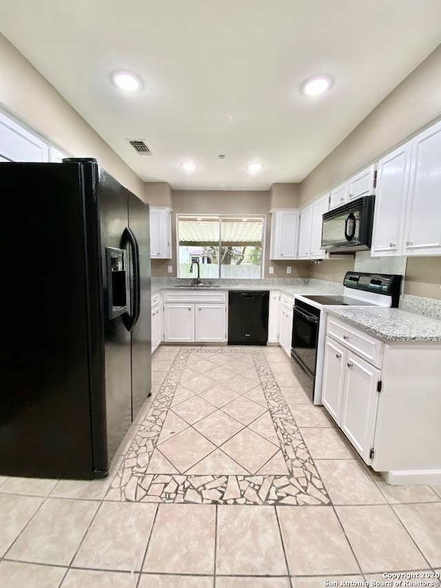
<svg viewBox="0 0 441 588">
<path fill-rule="evenodd" d="M 328 316 L 322 403 L 391 483 L 441 483 L 440 357 L 440 343 L 383 342 Z"/>
</svg>

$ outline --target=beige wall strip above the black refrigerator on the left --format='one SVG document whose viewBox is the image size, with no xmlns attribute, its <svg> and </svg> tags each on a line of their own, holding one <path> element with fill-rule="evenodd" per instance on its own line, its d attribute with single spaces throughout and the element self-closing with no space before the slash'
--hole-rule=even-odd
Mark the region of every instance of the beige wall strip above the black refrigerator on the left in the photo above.
<svg viewBox="0 0 441 588">
<path fill-rule="evenodd" d="M 0 34 L 0 103 L 50 143 L 99 165 L 141 199 L 144 183 L 92 127 Z"/>
</svg>

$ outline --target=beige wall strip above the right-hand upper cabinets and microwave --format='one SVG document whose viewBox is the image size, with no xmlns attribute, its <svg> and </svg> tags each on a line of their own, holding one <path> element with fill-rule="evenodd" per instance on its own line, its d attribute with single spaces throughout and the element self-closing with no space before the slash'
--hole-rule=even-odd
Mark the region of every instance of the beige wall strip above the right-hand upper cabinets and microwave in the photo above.
<svg viewBox="0 0 441 588">
<path fill-rule="evenodd" d="M 440 116 L 441 45 L 300 183 L 300 203 L 378 161 Z"/>
</svg>

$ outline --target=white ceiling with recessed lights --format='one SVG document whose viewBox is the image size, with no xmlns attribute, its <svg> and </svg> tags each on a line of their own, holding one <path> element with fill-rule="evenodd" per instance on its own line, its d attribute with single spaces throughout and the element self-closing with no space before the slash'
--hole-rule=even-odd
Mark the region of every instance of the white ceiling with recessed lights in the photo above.
<svg viewBox="0 0 441 588">
<path fill-rule="evenodd" d="M 267 190 L 304 179 L 435 49 L 441 1 L 0 0 L 0 32 L 144 181 Z M 114 87 L 119 68 L 143 90 Z M 320 73 L 334 86 L 307 99 Z"/>
</svg>

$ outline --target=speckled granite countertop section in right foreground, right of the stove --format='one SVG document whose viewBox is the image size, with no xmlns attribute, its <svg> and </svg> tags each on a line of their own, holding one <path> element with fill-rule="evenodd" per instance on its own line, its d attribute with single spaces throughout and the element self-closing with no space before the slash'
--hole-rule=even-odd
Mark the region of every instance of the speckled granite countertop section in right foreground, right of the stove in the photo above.
<svg viewBox="0 0 441 588">
<path fill-rule="evenodd" d="M 384 307 L 328 307 L 328 314 L 338 316 L 355 327 L 384 341 L 438 341 L 441 343 L 441 321 L 421 314 Z"/>
</svg>

